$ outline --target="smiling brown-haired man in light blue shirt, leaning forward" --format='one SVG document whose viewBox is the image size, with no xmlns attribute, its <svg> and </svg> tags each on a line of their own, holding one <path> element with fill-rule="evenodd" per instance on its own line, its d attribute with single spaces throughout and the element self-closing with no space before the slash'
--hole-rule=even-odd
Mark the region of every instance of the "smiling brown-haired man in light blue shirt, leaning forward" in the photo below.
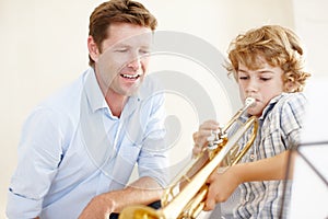
<svg viewBox="0 0 328 219">
<path fill-rule="evenodd" d="M 24 124 L 9 218 L 105 218 L 160 199 L 167 166 L 164 96 L 145 79 L 155 26 L 130 0 L 93 11 L 91 68 Z M 126 186 L 136 163 L 140 177 Z"/>
</svg>

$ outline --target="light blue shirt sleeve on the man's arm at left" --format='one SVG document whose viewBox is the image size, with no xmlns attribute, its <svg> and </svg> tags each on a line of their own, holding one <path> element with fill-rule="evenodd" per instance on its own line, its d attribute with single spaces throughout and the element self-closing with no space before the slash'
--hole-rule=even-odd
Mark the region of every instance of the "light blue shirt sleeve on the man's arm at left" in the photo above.
<svg viewBox="0 0 328 219">
<path fill-rule="evenodd" d="M 62 132 L 56 114 L 36 108 L 23 126 L 17 168 L 11 178 L 7 216 L 35 218 L 60 163 Z"/>
</svg>

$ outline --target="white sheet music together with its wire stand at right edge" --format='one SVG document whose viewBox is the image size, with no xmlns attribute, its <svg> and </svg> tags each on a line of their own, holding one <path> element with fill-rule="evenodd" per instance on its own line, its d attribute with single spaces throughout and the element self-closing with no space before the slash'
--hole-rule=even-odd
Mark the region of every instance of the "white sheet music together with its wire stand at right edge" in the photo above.
<svg viewBox="0 0 328 219">
<path fill-rule="evenodd" d="M 294 151 L 288 218 L 328 219 L 328 80 L 313 81 L 305 93 L 308 106 L 301 145 Z"/>
</svg>

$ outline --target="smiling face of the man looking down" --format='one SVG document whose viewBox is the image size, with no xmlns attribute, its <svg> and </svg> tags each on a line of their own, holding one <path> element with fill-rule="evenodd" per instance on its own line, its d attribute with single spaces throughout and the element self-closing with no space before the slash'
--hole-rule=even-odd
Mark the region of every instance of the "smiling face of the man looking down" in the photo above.
<svg viewBox="0 0 328 219">
<path fill-rule="evenodd" d="M 132 95 L 148 70 L 152 43 L 151 28 L 114 23 L 102 43 L 102 54 L 95 60 L 98 83 L 106 94 Z"/>
</svg>

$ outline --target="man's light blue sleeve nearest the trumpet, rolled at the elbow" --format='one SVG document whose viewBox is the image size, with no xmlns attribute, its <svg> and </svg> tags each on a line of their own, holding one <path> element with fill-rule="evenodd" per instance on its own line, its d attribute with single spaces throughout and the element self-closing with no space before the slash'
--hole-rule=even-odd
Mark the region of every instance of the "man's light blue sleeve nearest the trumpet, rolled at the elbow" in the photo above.
<svg viewBox="0 0 328 219">
<path fill-rule="evenodd" d="M 165 143 L 165 107 L 164 94 L 156 94 L 152 97 L 151 113 L 142 149 L 138 159 L 139 176 L 153 177 L 162 187 L 168 184 L 168 148 Z"/>
</svg>

